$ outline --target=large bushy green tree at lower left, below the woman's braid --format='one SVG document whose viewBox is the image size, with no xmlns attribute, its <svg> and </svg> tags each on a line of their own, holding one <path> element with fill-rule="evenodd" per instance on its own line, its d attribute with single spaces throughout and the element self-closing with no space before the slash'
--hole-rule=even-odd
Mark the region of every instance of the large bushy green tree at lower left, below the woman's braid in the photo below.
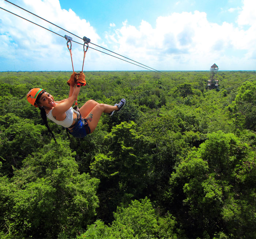
<svg viewBox="0 0 256 239">
<path fill-rule="evenodd" d="M 51 142 L 15 171 L 6 238 L 70 238 L 93 221 L 99 180 L 79 174 L 67 142 Z"/>
</svg>

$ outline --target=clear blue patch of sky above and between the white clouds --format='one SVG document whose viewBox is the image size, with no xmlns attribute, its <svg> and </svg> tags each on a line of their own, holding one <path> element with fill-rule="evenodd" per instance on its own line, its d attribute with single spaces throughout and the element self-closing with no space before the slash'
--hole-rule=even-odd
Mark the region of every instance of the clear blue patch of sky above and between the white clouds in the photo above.
<svg viewBox="0 0 256 239">
<path fill-rule="evenodd" d="M 155 27 L 158 16 L 169 16 L 173 12 L 206 12 L 207 19 L 211 22 L 221 24 L 226 21 L 235 23 L 237 10 L 229 12 L 231 8 L 242 8 L 241 0 L 109 0 L 109 1 L 71 1 L 60 0 L 64 9 L 71 8 L 81 18 L 88 20 L 91 24 L 97 23 L 95 28 L 98 34 L 109 28 L 109 23 L 115 23 L 117 27 L 128 20 L 132 26 L 139 27 L 141 20 L 145 20 Z"/>
</svg>

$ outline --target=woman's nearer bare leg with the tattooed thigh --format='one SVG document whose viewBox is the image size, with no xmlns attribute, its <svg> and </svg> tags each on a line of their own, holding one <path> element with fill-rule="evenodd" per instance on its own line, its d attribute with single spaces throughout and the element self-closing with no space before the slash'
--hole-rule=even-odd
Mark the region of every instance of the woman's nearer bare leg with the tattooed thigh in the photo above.
<svg viewBox="0 0 256 239">
<path fill-rule="evenodd" d="M 85 119 L 90 127 L 91 133 L 97 127 L 97 124 L 99 122 L 99 119 L 100 119 L 102 113 L 109 113 L 109 112 L 112 112 L 117 109 L 118 109 L 118 107 L 113 106 L 113 105 L 106 105 L 106 104 L 99 104 L 99 103 L 97 105 L 95 105 L 95 107 L 91 110 L 91 112 L 88 113 L 88 115 L 85 117 Z M 82 115 L 82 113 L 81 113 L 81 115 Z"/>
</svg>

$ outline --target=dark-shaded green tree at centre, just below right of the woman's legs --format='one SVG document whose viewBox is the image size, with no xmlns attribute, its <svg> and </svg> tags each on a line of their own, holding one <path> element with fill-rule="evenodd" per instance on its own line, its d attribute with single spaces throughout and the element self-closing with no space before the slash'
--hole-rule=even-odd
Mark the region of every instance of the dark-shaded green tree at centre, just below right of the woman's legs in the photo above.
<svg viewBox="0 0 256 239">
<path fill-rule="evenodd" d="M 146 178 L 151 165 L 143 135 L 136 131 L 136 127 L 134 122 L 113 127 L 104 139 L 108 147 L 95 155 L 90 166 L 95 177 L 111 178 L 117 184 L 126 185 L 124 190 L 134 194 L 147 187 Z"/>
</svg>

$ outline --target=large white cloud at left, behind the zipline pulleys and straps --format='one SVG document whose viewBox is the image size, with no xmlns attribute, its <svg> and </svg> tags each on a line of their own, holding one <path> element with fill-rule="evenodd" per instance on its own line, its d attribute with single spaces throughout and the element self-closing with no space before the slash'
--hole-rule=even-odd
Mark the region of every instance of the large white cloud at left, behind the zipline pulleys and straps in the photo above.
<svg viewBox="0 0 256 239">
<path fill-rule="evenodd" d="M 82 39 L 68 34 L 60 28 L 3 0 L 0 0 L 0 4 L 1 7 L 44 26 L 61 36 L 70 35 L 74 41 L 83 43 Z M 89 22 L 85 19 L 80 19 L 71 9 L 68 11 L 61 9 L 59 0 L 18 0 L 15 4 L 80 37 L 83 37 L 84 32 L 86 32 L 94 43 L 100 40 L 100 37 Z M 3 44 L 1 45 L 1 62 L 12 58 L 13 65 L 16 65 L 17 70 L 72 70 L 71 59 L 66 45 L 67 41 L 64 38 L 1 9 L 0 11 L 0 35 L 4 35 L 7 39 L 4 46 Z M 82 68 L 83 46 L 73 43 L 72 53 L 75 69 Z M 97 53 L 95 54 L 97 55 Z M 24 66 L 25 63 L 27 64 L 26 66 Z M 0 67 L 0 70 L 13 69 L 2 69 Z"/>
</svg>

